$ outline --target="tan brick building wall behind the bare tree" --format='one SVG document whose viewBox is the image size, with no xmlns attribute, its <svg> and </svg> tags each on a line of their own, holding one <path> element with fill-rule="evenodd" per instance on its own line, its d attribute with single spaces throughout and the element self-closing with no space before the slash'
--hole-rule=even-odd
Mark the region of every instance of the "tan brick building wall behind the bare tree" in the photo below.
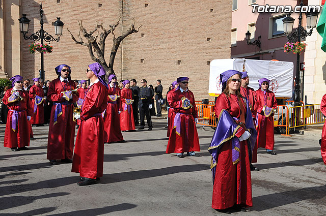
<svg viewBox="0 0 326 216">
<path fill-rule="evenodd" d="M 26 13 L 31 19 L 28 35 L 40 28 L 39 3 L 21 1 L 21 13 Z M 177 77 L 187 76 L 196 100 L 208 98 L 208 61 L 230 58 L 231 5 L 232 1 L 212 0 L 43 1 L 44 29 L 54 35 L 52 22 L 57 16 L 65 23 L 60 42 L 51 42 L 53 52 L 44 55 L 45 79 L 56 78 L 54 68 L 60 64 L 71 66 L 72 79 L 85 79 L 87 65 L 93 61 L 88 48 L 75 44 L 67 28 L 77 38 L 78 19 L 83 19 L 84 27 L 90 31 L 97 21 L 103 21 L 103 26 L 108 28 L 121 16 L 115 30 L 116 37 L 129 28 L 133 18 L 135 27 L 143 26 L 139 33 L 129 35 L 120 44 L 114 63 L 118 80 L 135 78 L 139 81 L 145 78 L 148 84 L 155 86 L 156 79 L 161 79 L 166 92 Z M 110 34 L 106 39 L 107 63 L 112 38 Z M 31 42 L 21 40 L 21 74 L 26 78 L 38 76 L 40 69 L 40 54 L 28 52 Z"/>
</svg>

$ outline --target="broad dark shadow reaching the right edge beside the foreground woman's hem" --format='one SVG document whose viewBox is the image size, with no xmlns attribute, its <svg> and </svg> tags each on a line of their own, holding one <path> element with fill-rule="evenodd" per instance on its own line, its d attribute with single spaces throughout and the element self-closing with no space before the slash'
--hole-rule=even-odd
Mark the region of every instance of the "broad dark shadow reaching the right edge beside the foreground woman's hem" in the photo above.
<svg viewBox="0 0 326 216">
<path fill-rule="evenodd" d="M 326 186 L 317 186 L 303 188 L 298 190 L 279 192 L 275 194 L 267 194 L 258 197 L 253 197 L 255 205 L 250 208 L 254 211 L 263 211 L 270 208 L 280 207 L 302 200 L 318 200 L 326 196 Z M 320 200 L 318 201 L 320 204 Z M 267 206 L 267 207 L 266 207 Z"/>
</svg>

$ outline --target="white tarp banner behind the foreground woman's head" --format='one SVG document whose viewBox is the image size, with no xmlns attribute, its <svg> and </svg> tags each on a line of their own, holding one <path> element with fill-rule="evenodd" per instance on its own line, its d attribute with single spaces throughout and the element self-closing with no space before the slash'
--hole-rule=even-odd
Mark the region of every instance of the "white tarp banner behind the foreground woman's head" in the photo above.
<svg viewBox="0 0 326 216">
<path fill-rule="evenodd" d="M 253 59 L 215 59 L 210 63 L 209 87 L 210 96 L 221 94 L 220 74 L 227 70 L 242 71 L 244 61 L 249 75 L 249 86 L 257 90 L 258 80 L 270 80 L 269 90 L 277 98 L 291 98 L 293 86 L 293 63 L 288 61 L 253 60 Z"/>
</svg>

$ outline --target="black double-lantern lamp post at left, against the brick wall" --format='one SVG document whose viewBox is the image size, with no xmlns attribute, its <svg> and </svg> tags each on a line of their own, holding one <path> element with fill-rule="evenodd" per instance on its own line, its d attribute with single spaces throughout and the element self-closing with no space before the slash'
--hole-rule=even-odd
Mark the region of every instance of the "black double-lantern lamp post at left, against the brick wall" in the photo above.
<svg viewBox="0 0 326 216">
<path fill-rule="evenodd" d="M 23 14 L 22 17 L 19 20 L 20 24 L 20 32 L 23 34 L 23 38 L 25 40 L 33 40 L 34 42 L 40 41 L 43 45 L 43 42 L 46 41 L 50 43 L 51 41 L 60 41 L 60 36 L 62 36 L 62 28 L 64 23 L 60 20 L 60 17 L 57 17 L 57 20 L 53 23 L 55 25 L 55 31 L 57 38 L 54 38 L 53 36 L 47 34 L 45 30 L 43 29 L 43 9 L 42 9 L 42 3 L 40 4 L 40 24 L 41 29 L 38 30 L 36 33 L 33 33 L 31 36 L 26 36 L 26 34 L 29 31 L 29 25 L 30 25 L 30 19 L 26 17 L 26 14 Z M 44 53 L 41 52 L 41 70 L 39 71 L 39 77 L 44 80 Z"/>
</svg>

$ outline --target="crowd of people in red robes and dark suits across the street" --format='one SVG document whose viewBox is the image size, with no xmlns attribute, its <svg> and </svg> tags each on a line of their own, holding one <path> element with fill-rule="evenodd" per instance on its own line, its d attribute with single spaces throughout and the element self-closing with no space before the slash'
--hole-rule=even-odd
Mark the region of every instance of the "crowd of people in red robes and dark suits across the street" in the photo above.
<svg viewBox="0 0 326 216">
<path fill-rule="evenodd" d="M 135 126 L 143 130 L 145 116 L 148 130 L 152 130 L 153 98 L 156 116 L 161 116 L 164 103 L 161 81 L 157 80 L 153 88 L 146 79 L 141 80 L 141 87 L 135 79 L 117 82 L 114 74 L 106 79 L 99 63 L 87 67 L 88 86 L 86 80 L 71 80 L 68 65 L 59 65 L 55 71 L 58 78 L 46 81 L 43 87 L 39 78 L 33 79 L 33 86 L 19 75 L 10 79 L 12 88 L 4 92 L 3 98 L 9 109 L 4 146 L 13 151 L 27 150 L 33 136 L 32 124 L 43 124 L 46 115 L 41 113 L 45 113 L 48 104 L 51 110 L 47 159 L 51 165 L 57 165 L 59 160 L 72 163 L 71 171 L 80 175 L 77 184 L 88 186 L 103 175 L 104 143 L 126 142 L 121 131 L 133 131 Z M 224 213 L 230 209 L 245 211 L 252 206 L 251 171 L 259 170 L 252 165 L 257 162 L 257 147 L 277 155 L 273 124 L 277 101 L 266 78 L 259 80 L 257 90 L 248 86 L 247 72 L 228 70 L 220 79 L 222 94 L 214 106 L 217 126 L 208 148 L 213 175 L 212 208 Z M 166 153 L 176 153 L 178 158 L 201 156 L 197 153 L 200 151 L 198 110 L 188 83 L 189 78 L 179 77 L 166 94 L 169 137 Z M 324 111 L 325 107 L 324 102 L 321 109 Z M 322 145 L 326 145 L 325 134 Z"/>
</svg>

